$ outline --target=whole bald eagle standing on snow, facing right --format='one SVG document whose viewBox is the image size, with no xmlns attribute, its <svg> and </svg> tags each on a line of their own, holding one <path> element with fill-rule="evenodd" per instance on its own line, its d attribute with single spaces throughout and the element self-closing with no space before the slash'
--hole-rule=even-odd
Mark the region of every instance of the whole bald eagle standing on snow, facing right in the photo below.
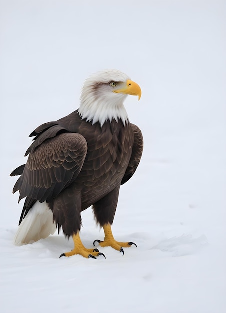
<svg viewBox="0 0 226 313">
<path fill-rule="evenodd" d="M 33 143 L 25 153 L 24 165 L 11 176 L 20 175 L 13 193 L 26 198 L 15 235 L 16 245 L 46 238 L 58 228 L 72 236 L 74 248 L 61 256 L 80 254 L 86 258 L 103 255 L 81 242 L 81 212 L 92 206 L 96 222 L 103 227 L 101 247 L 123 252 L 133 242 L 114 239 L 111 225 L 119 189 L 140 162 L 143 137 L 129 122 L 126 96 L 138 95 L 138 84 L 118 70 L 105 70 L 85 80 L 79 109 L 37 127 Z"/>
</svg>

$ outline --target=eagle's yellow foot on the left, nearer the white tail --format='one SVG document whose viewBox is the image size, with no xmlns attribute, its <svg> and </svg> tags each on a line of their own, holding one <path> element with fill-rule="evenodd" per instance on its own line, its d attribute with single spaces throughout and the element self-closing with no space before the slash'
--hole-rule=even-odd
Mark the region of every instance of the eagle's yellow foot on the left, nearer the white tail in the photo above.
<svg viewBox="0 0 226 313">
<path fill-rule="evenodd" d="M 72 256 L 75 254 L 82 255 L 83 257 L 86 257 L 86 258 L 89 258 L 89 257 L 96 258 L 96 256 L 99 256 L 99 255 L 103 255 L 105 257 L 105 255 L 103 253 L 100 253 L 98 249 L 86 249 L 83 243 L 81 242 L 79 231 L 76 234 L 73 234 L 72 238 L 74 241 L 74 249 L 70 252 L 61 254 L 60 257 Z"/>
</svg>

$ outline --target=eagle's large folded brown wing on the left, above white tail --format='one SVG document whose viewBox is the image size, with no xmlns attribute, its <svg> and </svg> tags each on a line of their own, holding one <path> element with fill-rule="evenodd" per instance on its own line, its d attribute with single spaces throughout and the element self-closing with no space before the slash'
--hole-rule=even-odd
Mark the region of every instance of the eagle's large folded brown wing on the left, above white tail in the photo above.
<svg viewBox="0 0 226 313">
<path fill-rule="evenodd" d="M 45 134 L 46 136 L 46 134 Z M 13 193 L 40 202 L 56 197 L 79 174 L 87 153 L 87 142 L 78 133 L 62 133 L 32 149 Z"/>
</svg>

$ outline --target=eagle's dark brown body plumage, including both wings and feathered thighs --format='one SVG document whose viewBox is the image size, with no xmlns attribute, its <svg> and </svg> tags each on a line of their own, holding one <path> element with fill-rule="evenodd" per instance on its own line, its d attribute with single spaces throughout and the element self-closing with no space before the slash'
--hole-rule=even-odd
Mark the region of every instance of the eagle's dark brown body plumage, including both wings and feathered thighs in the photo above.
<svg viewBox="0 0 226 313">
<path fill-rule="evenodd" d="M 92 125 L 75 111 L 31 136 L 25 167 L 12 172 L 21 174 L 13 192 L 27 197 L 20 222 L 36 200 L 46 200 L 67 237 L 80 229 L 80 212 L 91 205 L 100 225 L 112 223 L 120 184 L 131 178 L 142 155 L 139 128 L 121 120 Z"/>
</svg>

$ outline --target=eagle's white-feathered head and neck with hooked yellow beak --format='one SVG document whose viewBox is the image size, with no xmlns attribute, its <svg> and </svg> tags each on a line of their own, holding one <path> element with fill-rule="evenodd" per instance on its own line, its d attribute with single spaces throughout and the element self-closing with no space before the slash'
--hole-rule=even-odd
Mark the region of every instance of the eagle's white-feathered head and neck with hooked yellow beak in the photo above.
<svg viewBox="0 0 226 313">
<path fill-rule="evenodd" d="M 99 121 L 101 127 L 108 119 L 121 119 L 125 124 L 128 115 L 124 100 L 128 94 L 140 99 L 141 89 L 126 74 L 116 69 L 97 72 L 84 81 L 78 113 L 92 124 Z"/>
</svg>

